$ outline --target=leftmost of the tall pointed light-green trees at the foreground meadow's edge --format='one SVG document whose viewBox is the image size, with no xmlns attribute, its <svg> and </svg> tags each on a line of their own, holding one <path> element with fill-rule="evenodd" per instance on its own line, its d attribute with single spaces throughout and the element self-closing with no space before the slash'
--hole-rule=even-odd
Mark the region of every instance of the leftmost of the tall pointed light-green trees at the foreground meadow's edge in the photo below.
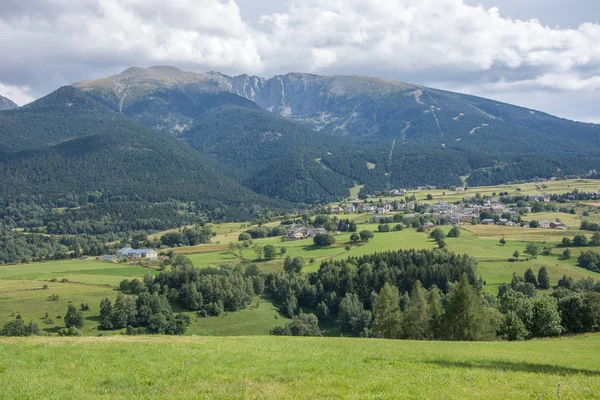
<svg viewBox="0 0 600 400">
<path fill-rule="evenodd" d="M 373 333 L 386 339 L 399 339 L 402 334 L 402 312 L 397 287 L 389 283 L 383 285 L 374 312 Z"/>
</svg>

